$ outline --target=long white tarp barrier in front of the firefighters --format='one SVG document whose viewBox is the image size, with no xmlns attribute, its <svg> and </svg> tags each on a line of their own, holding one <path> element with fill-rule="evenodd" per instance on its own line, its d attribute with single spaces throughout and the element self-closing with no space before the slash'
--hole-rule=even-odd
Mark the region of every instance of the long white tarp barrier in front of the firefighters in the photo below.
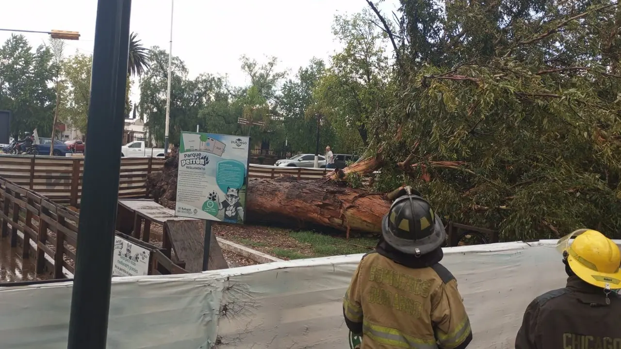
<svg viewBox="0 0 621 349">
<path fill-rule="evenodd" d="M 555 241 L 445 249 L 476 349 L 514 348 L 532 299 L 562 288 Z M 349 347 L 342 297 L 361 255 L 116 278 L 108 348 Z M 0 347 L 65 349 L 71 283 L 0 288 Z"/>
</svg>

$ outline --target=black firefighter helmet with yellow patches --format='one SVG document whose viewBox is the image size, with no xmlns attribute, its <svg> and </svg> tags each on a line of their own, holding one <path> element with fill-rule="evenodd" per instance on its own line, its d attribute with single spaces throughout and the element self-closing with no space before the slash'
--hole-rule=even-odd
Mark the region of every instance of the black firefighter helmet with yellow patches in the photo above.
<svg viewBox="0 0 621 349">
<path fill-rule="evenodd" d="M 418 195 L 398 197 L 382 219 L 384 240 L 397 250 L 421 256 L 442 246 L 446 232 L 431 205 Z"/>
</svg>

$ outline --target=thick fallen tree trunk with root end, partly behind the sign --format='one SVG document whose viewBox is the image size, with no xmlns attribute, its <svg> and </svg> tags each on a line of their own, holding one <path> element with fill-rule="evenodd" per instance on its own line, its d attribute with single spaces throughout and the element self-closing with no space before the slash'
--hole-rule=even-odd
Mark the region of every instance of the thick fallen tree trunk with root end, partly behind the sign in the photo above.
<svg viewBox="0 0 621 349">
<path fill-rule="evenodd" d="M 178 154 L 162 171 L 147 177 L 147 193 L 162 206 L 175 209 Z M 347 232 L 379 233 L 390 201 L 381 193 L 348 188 L 329 179 L 250 178 L 246 197 L 248 223 L 293 228 L 324 227 Z"/>
</svg>

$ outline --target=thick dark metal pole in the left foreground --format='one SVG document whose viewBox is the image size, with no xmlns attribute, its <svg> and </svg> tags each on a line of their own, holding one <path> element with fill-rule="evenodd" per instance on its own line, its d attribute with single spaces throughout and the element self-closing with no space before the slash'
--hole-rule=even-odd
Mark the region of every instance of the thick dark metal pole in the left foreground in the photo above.
<svg viewBox="0 0 621 349">
<path fill-rule="evenodd" d="M 130 10 L 131 0 L 97 2 L 68 349 L 106 348 Z"/>
</svg>

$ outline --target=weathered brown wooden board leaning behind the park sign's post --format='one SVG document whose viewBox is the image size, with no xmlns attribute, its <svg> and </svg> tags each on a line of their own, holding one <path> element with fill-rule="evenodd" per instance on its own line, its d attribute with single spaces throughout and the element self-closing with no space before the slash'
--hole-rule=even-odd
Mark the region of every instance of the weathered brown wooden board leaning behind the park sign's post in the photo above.
<svg viewBox="0 0 621 349">
<path fill-rule="evenodd" d="M 204 246 L 204 222 L 202 220 L 167 220 L 166 231 L 170 237 L 173 251 L 179 260 L 186 262 L 186 270 L 190 273 L 202 271 L 202 255 Z M 209 270 L 229 268 L 224 259 L 220 245 L 211 234 L 209 247 Z"/>
</svg>

